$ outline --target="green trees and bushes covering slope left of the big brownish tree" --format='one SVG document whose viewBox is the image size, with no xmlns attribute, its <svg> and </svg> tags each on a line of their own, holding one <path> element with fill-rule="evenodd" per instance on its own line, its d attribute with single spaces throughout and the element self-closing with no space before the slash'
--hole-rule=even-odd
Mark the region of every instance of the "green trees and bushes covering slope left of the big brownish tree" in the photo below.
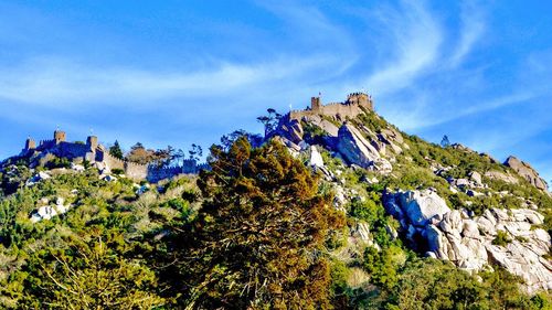
<svg viewBox="0 0 552 310">
<path fill-rule="evenodd" d="M 25 169 L 19 173 L 30 175 Z M 159 297 L 166 288 L 149 257 L 152 246 L 160 246 L 156 236 L 163 225 L 193 217 L 191 203 L 173 197 L 183 191 L 137 197 L 131 181 L 105 182 L 96 170 L 86 170 L 54 174 L 0 199 L 0 308 L 151 309 L 170 303 L 173 297 Z M 52 205 L 59 196 L 71 204 L 67 213 L 30 223 L 31 211 L 47 204 L 40 200 Z M 75 291 L 82 291 L 79 298 Z"/>
</svg>

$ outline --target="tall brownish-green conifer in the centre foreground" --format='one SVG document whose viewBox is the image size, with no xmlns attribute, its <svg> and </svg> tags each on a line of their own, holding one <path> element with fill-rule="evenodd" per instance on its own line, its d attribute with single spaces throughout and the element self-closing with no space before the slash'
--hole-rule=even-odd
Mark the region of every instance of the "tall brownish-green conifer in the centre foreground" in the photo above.
<svg viewBox="0 0 552 310">
<path fill-rule="evenodd" d="M 319 177 L 282 143 L 252 149 L 245 137 L 229 151 L 213 146 L 210 165 L 193 233 L 174 238 L 188 308 L 326 308 L 321 248 L 344 220 L 319 193 Z"/>
</svg>

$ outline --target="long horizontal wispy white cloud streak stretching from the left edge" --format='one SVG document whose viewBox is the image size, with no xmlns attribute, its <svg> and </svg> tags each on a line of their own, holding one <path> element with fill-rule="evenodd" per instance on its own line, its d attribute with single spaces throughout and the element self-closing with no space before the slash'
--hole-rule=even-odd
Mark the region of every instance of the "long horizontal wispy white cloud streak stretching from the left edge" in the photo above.
<svg viewBox="0 0 552 310">
<path fill-rule="evenodd" d="M 34 61 L 0 68 L 0 98 L 41 106 L 126 99 L 219 96 L 255 86 L 268 87 L 278 81 L 296 81 L 339 60 L 311 55 L 282 57 L 270 63 L 241 65 L 219 63 L 192 72 L 166 72 L 134 67 L 93 67 L 67 61 Z M 259 86 L 259 87 L 261 87 Z"/>
</svg>

